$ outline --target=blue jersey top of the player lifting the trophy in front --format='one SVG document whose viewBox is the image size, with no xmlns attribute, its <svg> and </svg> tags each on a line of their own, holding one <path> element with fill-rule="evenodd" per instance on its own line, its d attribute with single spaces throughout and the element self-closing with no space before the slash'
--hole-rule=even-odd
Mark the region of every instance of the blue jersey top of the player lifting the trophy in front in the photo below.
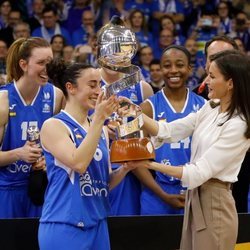
<svg viewBox="0 0 250 250">
<path fill-rule="evenodd" d="M 70 131 L 78 147 L 87 135 L 85 129 L 69 114 L 55 116 Z M 95 226 L 109 212 L 109 159 L 104 133 L 87 171 L 79 174 L 63 165 L 44 149 L 48 187 L 40 222 L 64 223 L 79 228 Z"/>
</svg>

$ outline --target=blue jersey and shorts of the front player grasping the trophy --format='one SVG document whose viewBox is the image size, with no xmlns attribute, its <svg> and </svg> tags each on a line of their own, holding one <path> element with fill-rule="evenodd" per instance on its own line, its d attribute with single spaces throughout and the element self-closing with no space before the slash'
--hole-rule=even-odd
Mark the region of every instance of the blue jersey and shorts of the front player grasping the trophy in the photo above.
<svg viewBox="0 0 250 250">
<path fill-rule="evenodd" d="M 78 147 L 87 135 L 85 129 L 65 111 L 55 118 L 64 123 Z M 62 164 L 45 148 L 44 155 L 48 186 L 39 226 L 40 249 L 109 249 L 109 154 L 104 133 L 83 174 Z M 96 248 L 95 237 L 101 239 Z"/>
</svg>

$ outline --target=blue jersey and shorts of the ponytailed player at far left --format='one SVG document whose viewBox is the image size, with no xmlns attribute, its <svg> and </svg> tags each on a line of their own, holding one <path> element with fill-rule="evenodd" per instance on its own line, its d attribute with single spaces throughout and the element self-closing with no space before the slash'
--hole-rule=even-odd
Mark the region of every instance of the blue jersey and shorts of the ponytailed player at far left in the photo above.
<svg viewBox="0 0 250 250">
<path fill-rule="evenodd" d="M 0 91 L 8 92 L 9 119 L 5 128 L 2 151 L 22 147 L 29 126 L 40 129 L 43 122 L 52 117 L 55 106 L 55 87 L 47 83 L 41 86 L 30 105 L 23 100 L 15 83 L 4 85 Z M 0 218 L 38 217 L 41 207 L 34 206 L 27 196 L 28 177 L 31 164 L 16 161 L 0 168 Z"/>
</svg>

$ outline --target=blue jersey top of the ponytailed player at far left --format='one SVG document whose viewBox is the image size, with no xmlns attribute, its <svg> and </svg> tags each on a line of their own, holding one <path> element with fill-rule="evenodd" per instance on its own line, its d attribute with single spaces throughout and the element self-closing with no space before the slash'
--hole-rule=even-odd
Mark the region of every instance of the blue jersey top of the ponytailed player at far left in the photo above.
<svg viewBox="0 0 250 250">
<path fill-rule="evenodd" d="M 7 84 L 0 91 L 8 92 L 9 119 L 6 125 L 2 151 L 22 147 L 27 140 L 27 128 L 32 125 L 40 129 L 43 122 L 53 116 L 55 87 L 47 83 L 41 86 L 30 105 L 23 100 L 15 83 Z M 16 161 L 0 168 L 0 187 L 27 185 L 31 164 Z"/>
</svg>

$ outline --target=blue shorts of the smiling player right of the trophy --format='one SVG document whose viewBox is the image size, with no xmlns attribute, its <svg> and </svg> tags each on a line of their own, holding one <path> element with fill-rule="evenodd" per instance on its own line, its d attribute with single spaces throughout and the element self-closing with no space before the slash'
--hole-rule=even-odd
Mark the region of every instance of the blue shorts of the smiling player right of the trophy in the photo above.
<svg viewBox="0 0 250 250">
<path fill-rule="evenodd" d="M 157 183 L 168 194 L 180 194 L 181 185 Z M 165 203 L 150 189 L 144 188 L 141 194 L 141 215 L 184 214 L 184 209 L 174 208 Z"/>
</svg>

